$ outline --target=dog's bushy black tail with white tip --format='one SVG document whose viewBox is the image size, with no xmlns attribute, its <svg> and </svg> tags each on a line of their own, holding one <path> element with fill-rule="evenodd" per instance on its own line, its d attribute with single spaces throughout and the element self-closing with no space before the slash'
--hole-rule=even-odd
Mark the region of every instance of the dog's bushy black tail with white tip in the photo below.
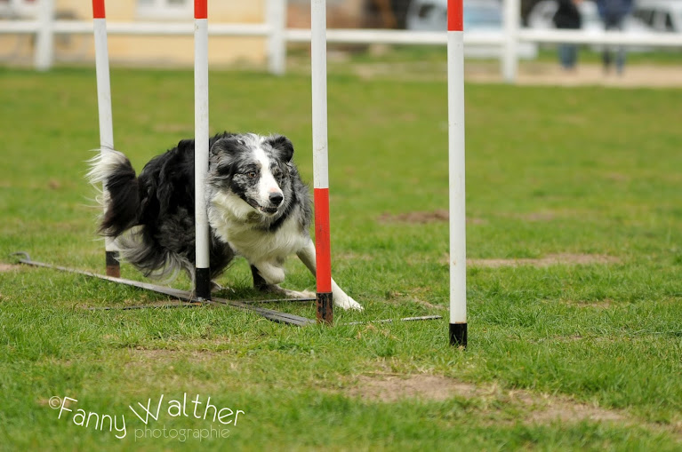
<svg viewBox="0 0 682 452">
<path fill-rule="evenodd" d="M 100 183 L 104 207 L 100 234 L 116 237 L 135 226 L 140 212 L 140 189 L 128 157 L 113 149 L 102 149 L 90 160 L 87 178 L 93 186 Z"/>
</svg>

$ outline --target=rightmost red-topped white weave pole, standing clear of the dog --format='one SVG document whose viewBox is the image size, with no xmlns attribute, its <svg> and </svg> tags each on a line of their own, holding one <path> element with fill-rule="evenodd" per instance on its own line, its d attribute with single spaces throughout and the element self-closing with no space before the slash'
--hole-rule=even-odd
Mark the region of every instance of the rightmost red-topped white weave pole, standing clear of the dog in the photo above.
<svg viewBox="0 0 682 452">
<path fill-rule="evenodd" d="M 462 0 L 447 1 L 447 110 L 450 179 L 450 345 L 467 346 Z"/>
</svg>

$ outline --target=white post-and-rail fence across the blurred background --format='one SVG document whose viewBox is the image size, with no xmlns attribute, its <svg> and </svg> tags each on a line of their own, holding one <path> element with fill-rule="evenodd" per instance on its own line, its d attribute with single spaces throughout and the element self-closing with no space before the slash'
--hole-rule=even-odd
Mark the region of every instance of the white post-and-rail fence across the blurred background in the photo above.
<svg viewBox="0 0 682 452">
<path fill-rule="evenodd" d="M 498 46 L 501 72 L 505 81 L 513 83 L 518 71 L 518 46 L 520 43 L 575 43 L 621 44 L 625 46 L 680 47 L 682 33 L 622 33 L 618 31 L 585 32 L 582 30 L 535 30 L 520 27 L 520 0 L 502 0 L 504 4 L 503 28 L 495 32 L 467 32 L 464 46 Z M 310 30 L 285 28 L 286 0 L 267 0 L 266 17 L 260 24 L 211 23 L 211 36 L 264 36 L 268 40 L 269 71 L 284 74 L 286 44 L 307 43 Z M 54 20 L 53 0 L 40 0 L 36 20 L 0 20 L 0 34 L 31 34 L 36 36 L 34 66 L 37 70 L 52 67 L 55 35 L 83 35 L 92 33 L 92 21 Z M 180 22 L 108 22 L 110 35 L 192 36 L 191 18 Z M 447 36 L 443 32 L 413 32 L 388 29 L 328 29 L 327 41 L 337 44 L 417 44 L 442 45 Z"/>
</svg>

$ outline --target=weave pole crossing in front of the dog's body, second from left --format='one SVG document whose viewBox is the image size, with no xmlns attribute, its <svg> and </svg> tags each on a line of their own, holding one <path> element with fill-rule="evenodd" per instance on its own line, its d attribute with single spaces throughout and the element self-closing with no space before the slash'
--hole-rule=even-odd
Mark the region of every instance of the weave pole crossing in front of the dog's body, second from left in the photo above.
<svg viewBox="0 0 682 452">
<path fill-rule="evenodd" d="M 194 288 L 199 300 L 211 299 L 208 213 L 205 179 L 208 172 L 208 4 L 194 1 L 194 215 L 196 268 Z"/>
</svg>

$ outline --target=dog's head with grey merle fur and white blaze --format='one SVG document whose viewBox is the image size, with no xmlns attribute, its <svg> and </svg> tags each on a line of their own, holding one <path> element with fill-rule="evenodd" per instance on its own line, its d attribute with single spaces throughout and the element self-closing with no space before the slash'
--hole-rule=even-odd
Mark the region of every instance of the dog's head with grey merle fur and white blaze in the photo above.
<svg viewBox="0 0 682 452">
<path fill-rule="evenodd" d="M 273 217 L 285 210 L 292 196 L 292 142 L 284 136 L 253 133 L 226 135 L 213 142 L 208 182 L 212 202 L 237 217 L 253 212 Z"/>
</svg>

